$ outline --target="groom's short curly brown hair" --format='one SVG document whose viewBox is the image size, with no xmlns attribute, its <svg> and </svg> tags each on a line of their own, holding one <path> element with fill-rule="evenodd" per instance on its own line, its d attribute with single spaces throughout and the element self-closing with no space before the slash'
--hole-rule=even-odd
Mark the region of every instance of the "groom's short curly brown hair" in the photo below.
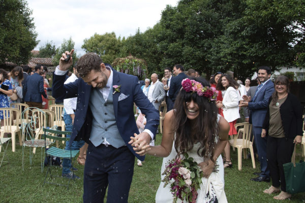
<svg viewBox="0 0 305 203">
<path fill-rule="evenodd" d="M 101 63 L 103 60 L 98 54 L 89 52 L 78 59 L 75 68 L 80 77 L 85 77 L 92 70 L 100 71 Z"/>
</svg>

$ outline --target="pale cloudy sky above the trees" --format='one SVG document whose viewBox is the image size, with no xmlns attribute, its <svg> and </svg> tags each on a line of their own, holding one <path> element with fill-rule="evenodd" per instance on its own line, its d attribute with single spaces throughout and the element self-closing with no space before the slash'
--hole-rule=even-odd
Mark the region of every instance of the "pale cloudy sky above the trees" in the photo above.
<svg viewBox="0 0 305 203">
<path fill-rule="evenodd" d="M 40 43 L 52 41 L 57 47 L 63 39 L 72 37 L 77 54 L 84 39 L 95 33 L 115 32 L 121 38 L 135 35 L 138 28 L 144 32 L 160 19 L 166 5 L 176 6 L 178 0 L 27 0 Z"/>
</svg>

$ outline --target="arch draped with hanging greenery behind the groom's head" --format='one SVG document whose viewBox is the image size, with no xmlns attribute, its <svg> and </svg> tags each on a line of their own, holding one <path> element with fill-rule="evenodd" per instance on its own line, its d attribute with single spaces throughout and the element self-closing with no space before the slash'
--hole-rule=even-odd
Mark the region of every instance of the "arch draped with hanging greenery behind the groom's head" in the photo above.
<svg viewBox="0 0 305 203">
<path fill-rule="evenodd" d="M 132 55 L 125 58 L 116 58 L 112 63 L 112 67 L 116 71 L 138 76 L 139 79 L 142 80 L 144 80 L 147 75 L 146 61 Z"/>
</svg>

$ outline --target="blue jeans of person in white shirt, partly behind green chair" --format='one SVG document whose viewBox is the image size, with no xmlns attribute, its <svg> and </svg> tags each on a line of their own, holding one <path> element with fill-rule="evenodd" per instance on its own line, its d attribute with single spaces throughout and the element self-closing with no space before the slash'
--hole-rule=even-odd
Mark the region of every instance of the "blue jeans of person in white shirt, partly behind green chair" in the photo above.
<svg viewBox="0 0 305 203">
<path fill-rule="evenodd" d="M 65 110 L 64 110 L 65 111 Z M 72 118 L 70 115 L 64 113 L 64 121 L 66 124 L 66 131 L 72 131 Z M 70 138 L 70 135 L 67 134 L 67 138 Z M 66 142 L 66 147 L 65 150 L 70 150 L 69 146 L 70 142 Z M 73 141 L 71 144 L 71 150 L 78 150 L 85 144 L 85 141 Z M 71 160 L 70 159 L 63 159 L 63 174 L 69 174 L 70 173 L 70 168 L 72 167 Z"/>
</svg>

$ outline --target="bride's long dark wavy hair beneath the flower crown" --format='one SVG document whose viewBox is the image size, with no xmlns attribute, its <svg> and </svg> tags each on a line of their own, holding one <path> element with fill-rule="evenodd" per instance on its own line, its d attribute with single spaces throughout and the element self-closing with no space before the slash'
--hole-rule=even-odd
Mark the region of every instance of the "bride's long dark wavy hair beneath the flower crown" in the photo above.
<svg viewBox="0 0 305 203">
<path fill-rule="evenodd" d="M 210 86 L 203 78 L 190 78 L 200 82 L 202 86 Z M 187 117 L 187 102 L 193 100 L 199 107 L 198 117 L 191 122 Z M 199 156 L 210 158 L 214 155 L 216 146 L 215 137 L 218 135 L 219 126 L 217 122 L 218 109 L 214 101 L 209 101 L 207 97 L 198 96 L 192 92 L 186 92 L 181 88 L 175 99 L 173 129 L 176 131 L 175 149 L 177 156 L 184 154 L 200 143 L 197 153 Z M 202 151 L 201 151 L 202 150 Z M 201 151 L 201 152 L 200 152 Z"/>
</svg>

